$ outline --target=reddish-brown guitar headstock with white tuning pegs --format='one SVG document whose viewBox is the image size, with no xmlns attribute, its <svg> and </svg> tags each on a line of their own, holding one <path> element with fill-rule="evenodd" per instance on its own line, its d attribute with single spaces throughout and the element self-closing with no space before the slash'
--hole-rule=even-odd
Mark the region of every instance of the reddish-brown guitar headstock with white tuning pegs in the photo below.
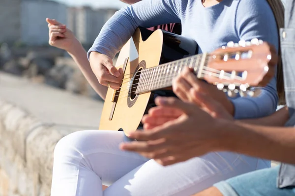
<svg viewBox="0 0 295 196">
<path fill-rule="evenodd" d="M 209 54 L 202 76 L 230 97 L 256 96 L 250 87 L 266 86 L 275 74 L 277 54 L 273 46 L 258 39 L 229 42 Z"/>
</svg>

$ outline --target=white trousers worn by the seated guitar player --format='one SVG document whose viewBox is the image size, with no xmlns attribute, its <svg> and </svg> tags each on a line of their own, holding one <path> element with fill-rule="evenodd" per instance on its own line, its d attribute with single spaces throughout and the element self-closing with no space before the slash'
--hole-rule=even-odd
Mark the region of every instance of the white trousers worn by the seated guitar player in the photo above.
<svg viewBox="0 0 295 196">
<path fill-rule="evenodd" d="M 163 167 L 118 147 L 121 131 L 78 131 L 54 152 L 51 196 L 190 196 L 214 183 L 270 167 L 270 162 L 231 152 L 212 152 Z M 102 191 L 103 185 L 110 185 Z"/>
</svg>

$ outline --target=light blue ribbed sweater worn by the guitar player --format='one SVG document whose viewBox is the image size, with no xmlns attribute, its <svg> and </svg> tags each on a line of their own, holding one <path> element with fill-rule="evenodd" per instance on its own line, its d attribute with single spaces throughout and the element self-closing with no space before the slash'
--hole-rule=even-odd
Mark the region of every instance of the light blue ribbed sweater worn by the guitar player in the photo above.
<svg viewBox="0 0 295 196">
<path fill-rule="evenodd" d="M 194 39 L 199 52 L 211 52 L 229 41 L 262 39 L 278 50 L 275 18 L 266 0 L 223 0 L 204 7 L 201 0 L 142 0 L 122 8 L 103 26 L 89 49 L 113 58 L 136 27 L 182 24 L 182 36 Z M 273 78 L 257 98 L 232 98 L 235 118 L 259 118 L 275 112 L 278 102 Z"/>
</svg>

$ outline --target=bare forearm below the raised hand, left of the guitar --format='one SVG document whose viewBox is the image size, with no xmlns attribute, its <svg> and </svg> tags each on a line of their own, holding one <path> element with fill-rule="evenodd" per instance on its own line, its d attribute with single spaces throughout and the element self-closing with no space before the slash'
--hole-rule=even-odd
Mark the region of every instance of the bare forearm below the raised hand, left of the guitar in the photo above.
<svg viewBox="0 0 295 196">
<path fill-rule="evenodd" d="M 83 73 L 84 77 L 89 82 L 90 86 L 95 90 L 95 92 L 103 99 L 106 98 L 108 88 L 106 86 L 101 85 L 95 74 L 93 73 L 89 60 L 87 58 L 87 52 L 83 48 L 80 42 L 77 42 L 75 44 L 75 47 L 73 47 L 74 50 L 68 51 L 70 56 L 74 59 L 76 64 L 78 65 L 79 69 Z"/>
</svg>

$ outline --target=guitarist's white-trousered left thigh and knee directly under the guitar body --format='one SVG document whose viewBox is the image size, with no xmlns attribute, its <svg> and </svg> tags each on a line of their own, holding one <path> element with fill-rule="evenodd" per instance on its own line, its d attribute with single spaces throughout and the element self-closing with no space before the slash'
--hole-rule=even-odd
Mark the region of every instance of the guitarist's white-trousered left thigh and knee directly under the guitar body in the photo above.
<svg viewBox="0 0 295 196">
<path fill-rule="evenodd" d="M 119 145 L 130 141 L 122 131 L 86 130 L 62 138 L 55 149 L 55 159 L 83 164 L 96 173 L 104 185 L 147 162 L 134 152 L 122 151 Z M 68 159 L 68 160 L 65 160 Z"/>
</svg>

